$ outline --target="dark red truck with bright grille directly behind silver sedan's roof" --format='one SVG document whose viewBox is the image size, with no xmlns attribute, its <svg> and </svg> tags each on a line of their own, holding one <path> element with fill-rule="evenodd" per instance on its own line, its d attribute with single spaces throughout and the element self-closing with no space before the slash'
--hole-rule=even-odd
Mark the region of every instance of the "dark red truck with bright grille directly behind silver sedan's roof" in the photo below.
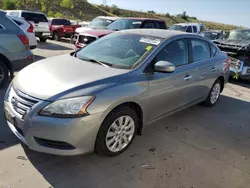
<svg viewBox="0 0 250 188">
<path fill-rule="evenodd" d="M 125 29 L 167 29 L 167 25 L 164 20 L 152 19 L 152 18 L 119 18 L 110 24 L 107 29 L 102 30 L 88 30 L 78 35 L 75 43 L 77 49 L 83 48 L 86 45 L 94 42 L 95 40 L 106 36 L 115 31 Z"/>
</svg>

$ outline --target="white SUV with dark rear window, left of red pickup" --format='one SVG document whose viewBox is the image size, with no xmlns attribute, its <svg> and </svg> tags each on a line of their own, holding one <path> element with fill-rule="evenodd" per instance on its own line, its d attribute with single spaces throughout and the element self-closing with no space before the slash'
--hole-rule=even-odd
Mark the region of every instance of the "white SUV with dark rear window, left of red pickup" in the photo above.
<svg viewBox="0 0 250 188">
<path fill-rule="evenodd" d="M 49 22 L 45 14 L 25 10 L 7 10 L 6 12 L 7 15 L 23 17 L 32 23 L 35 29 L 35 36 L 38 37 L 41 42 L 46 42 L 50 37 Z"/>
</svg>

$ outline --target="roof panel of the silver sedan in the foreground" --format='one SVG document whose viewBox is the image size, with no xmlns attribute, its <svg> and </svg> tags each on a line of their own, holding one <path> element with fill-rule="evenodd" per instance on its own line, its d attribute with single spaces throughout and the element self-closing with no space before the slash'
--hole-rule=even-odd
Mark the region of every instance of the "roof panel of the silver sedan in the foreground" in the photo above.
<svg viewBox="0 0 250 188">
<path fill-rule="evenodd" d="M 152 37 L 159 37 L 168 39 L 170 37 L 178 36 L 178 35 L 193 35 L 189 33 L 184 33 L 181 31 L 175 30 L 164 30 L 164 29 L 128 29 L 118 31 L 117 33 L 132 33 L 132 34 L 140 34 L 140 35 L 148 35 Z"/>
</svg>

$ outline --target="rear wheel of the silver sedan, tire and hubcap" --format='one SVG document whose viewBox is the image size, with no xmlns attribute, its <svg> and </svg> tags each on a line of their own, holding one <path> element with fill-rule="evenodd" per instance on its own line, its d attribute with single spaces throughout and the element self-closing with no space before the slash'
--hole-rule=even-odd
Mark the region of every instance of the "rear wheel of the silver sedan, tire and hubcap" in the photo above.
<svg viewBox="0 0 250 188">
<path fill-rule="evenodd" d="M 217 79 L 214 82 L 207 99 L 203 102 L 203 105 L 209 107 L 214 106 L 220 98 L 221 88 L 222 88 L 222 83 L 219 79 Z"/>
</svg>

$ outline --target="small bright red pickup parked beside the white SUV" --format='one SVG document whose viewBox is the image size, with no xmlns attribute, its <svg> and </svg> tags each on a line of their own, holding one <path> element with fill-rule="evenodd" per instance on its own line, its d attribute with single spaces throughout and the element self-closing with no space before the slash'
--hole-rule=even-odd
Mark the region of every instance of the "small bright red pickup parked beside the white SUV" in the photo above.
<svg viewBox="0 0 250 188">
<path fill-rule="evenodd" d="M 53 18 L 50 21 L 50 33 L 52 39 L 58 41 L 61 37 L 70 38 L 74 35 L 76 28 L 79 25 L 71 25 L 70 21 L 67 19 Z"/>
</svg>

